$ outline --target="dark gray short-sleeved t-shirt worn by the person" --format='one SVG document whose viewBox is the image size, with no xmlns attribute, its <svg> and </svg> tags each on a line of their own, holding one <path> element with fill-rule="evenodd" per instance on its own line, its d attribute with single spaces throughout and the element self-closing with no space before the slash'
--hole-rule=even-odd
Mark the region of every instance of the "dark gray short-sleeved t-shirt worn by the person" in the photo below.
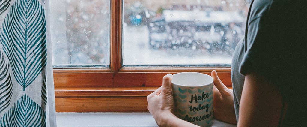
<svg viewBox="0 0 307 127">
<path fill-rule="evenodd" d="M 282 94 L 279 125 L 307 126 L 306 8 L 305 0 L 251 2 L 245 37 L 231 65 L 237 121 L 245 75 L 253 71 L 273 82 Z"/>
</svg>

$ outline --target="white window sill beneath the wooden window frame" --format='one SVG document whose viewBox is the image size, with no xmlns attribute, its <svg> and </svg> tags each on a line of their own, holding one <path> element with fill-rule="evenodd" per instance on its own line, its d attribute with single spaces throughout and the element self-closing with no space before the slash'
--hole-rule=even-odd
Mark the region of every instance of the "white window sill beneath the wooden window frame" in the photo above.
<svg viewBox="0 0 307 127">
<path fill-rule="evenodd" d="M 56 113 L 58 127 L 157 127 L 150 113 Z M 212 126 L 235 127 L 214 120 Z"/>
</svg>

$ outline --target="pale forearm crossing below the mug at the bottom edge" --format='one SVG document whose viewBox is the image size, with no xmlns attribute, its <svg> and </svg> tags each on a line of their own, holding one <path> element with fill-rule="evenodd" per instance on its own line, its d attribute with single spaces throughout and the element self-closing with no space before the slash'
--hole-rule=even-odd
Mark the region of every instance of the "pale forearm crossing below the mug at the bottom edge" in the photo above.
<svg viewBox="0 0 307 127">
<path fill-rule="evenodd" d="M 199 127 L 194 125 L 188 121 L 184 121 L 171 114 L 169 117 L 165 118 L 161 121 L 161 123 L 157 123 L 160 127 Z"/>
</svg>

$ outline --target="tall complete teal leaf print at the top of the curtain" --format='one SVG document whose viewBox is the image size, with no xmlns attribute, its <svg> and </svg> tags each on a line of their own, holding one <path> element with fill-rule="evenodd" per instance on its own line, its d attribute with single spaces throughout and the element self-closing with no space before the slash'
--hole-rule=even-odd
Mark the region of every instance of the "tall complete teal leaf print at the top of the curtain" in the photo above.
<svg viewBox="0 0 307 127">
<path fill-rule="evenodd" d="M 25 91 L 46 66 L 45 10 L 37 0 L 16 0 L 2 25 L 3 50 Z"/>
</svg>

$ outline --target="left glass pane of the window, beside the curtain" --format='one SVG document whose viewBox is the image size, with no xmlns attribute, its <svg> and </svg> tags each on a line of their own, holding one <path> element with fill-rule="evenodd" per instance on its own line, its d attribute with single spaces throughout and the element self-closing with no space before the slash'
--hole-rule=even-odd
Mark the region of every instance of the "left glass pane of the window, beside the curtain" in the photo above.
<svg viewBox="0 0 307 127">
<path fill-rule="evenodd" d="M 108 67 L 110 0 L 51 0 L 54 67 Z"/>
</svg>

